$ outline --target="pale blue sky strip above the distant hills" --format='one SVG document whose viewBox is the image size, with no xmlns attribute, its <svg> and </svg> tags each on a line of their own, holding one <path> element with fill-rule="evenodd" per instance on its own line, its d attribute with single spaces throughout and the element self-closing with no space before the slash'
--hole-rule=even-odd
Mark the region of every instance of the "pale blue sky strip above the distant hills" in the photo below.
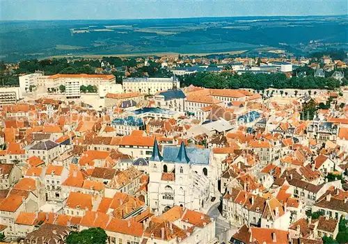
<svg viewBox="0 0 348 244">
<path fill-rule="evenodd" d="M 347 15 L 347 0 L 0 0 L 1 20 Z"/>
</svg>

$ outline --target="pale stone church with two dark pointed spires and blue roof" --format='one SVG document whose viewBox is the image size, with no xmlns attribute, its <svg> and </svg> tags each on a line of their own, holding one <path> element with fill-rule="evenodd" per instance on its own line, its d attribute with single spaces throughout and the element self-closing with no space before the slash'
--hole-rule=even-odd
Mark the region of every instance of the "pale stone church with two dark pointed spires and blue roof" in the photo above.
<svg viewBox="0 0 348 244">
<path fill-rule="evenodd" d="M 155 140 L 149 162 L 150 210 L 161 214 L 177 205 L 202 211 L 217 188 L 211 149 L 185 147 L 182 142 L 162 151 Z"/>
</svg>

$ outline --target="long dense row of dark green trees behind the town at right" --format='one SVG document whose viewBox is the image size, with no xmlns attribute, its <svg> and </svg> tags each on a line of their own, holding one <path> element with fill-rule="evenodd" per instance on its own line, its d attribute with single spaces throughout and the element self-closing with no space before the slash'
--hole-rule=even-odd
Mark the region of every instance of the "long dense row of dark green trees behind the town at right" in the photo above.
<svg viewBox="0 0 348 244">
<path fill-rule="evenodd" d="M 197 72 L 180 76 L 182 86 L 203 86 L 205 88 L 251 88 L 254 90 L 264 90 L 267 88 L 276 89 L 330 89 L 340 87 L 340 81 L 333 78 L 306 76 L 304 78 L 287 78 L 285 74 L 253 74 L 244 73 L 242 75 L 232 74 L 231 72 Z M 344 85 L 348 85 L 344 79 Z"/>
</svg>

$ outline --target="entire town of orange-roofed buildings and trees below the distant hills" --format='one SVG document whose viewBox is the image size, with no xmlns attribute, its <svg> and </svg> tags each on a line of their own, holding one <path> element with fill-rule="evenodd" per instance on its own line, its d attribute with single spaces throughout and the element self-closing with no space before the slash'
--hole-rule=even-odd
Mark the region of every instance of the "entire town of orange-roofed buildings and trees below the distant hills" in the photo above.
<svg viewBox="0 0 348 244">
<path fill-rule="evenodd" d="M 348 243 L 347 54 L 271 55 L 1 64 L 0 241 Z"/>
</svg>

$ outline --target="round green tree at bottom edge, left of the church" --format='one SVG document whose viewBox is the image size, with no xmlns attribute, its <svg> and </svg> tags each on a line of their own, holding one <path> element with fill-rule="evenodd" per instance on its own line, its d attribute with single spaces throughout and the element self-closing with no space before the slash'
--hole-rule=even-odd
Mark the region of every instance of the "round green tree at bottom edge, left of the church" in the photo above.
<svg viewBox="0 0 348 244">
<path fill-rule="evenodd" d="M 67 244 L 105 244 L 106 233 L 102 228 L 84 229 L 81 232 L 72 231 L 66 238 Z"/>
</svg>

